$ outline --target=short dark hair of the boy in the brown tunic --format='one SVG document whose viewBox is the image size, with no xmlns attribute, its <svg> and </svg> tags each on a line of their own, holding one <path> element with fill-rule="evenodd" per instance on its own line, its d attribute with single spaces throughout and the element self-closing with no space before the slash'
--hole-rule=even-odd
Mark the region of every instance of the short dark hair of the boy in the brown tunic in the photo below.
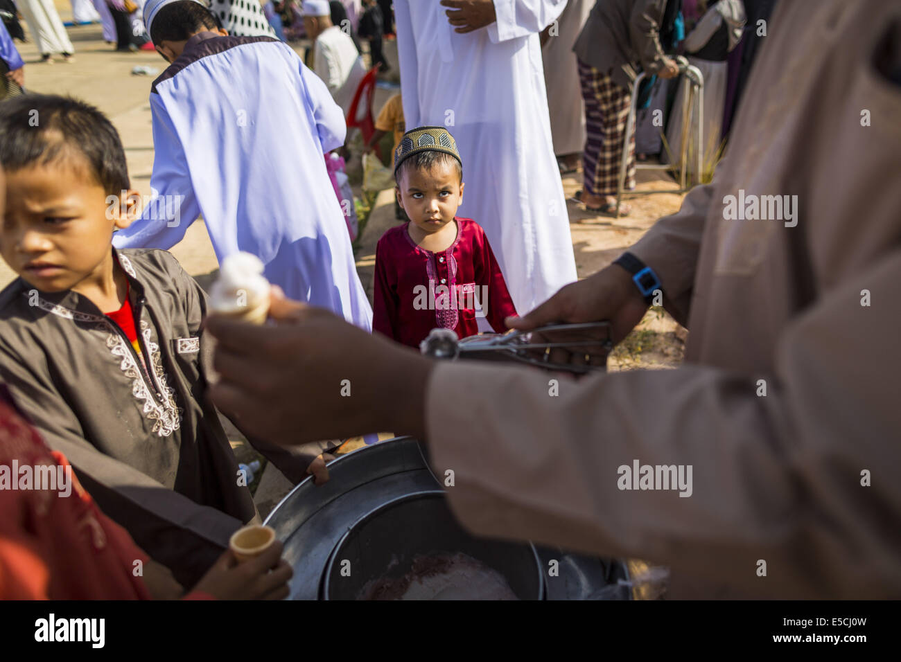
<svg viewBox="0 0 901 662">
<path fill-rule="evenodd" d="M 86 161 L 107 195 L 129 188 L 119 133 L 93 105 L 68 96 L 22 95 L 0 104 L 0 166 L 18 170 L 70 159 Z"/>
</svg>

